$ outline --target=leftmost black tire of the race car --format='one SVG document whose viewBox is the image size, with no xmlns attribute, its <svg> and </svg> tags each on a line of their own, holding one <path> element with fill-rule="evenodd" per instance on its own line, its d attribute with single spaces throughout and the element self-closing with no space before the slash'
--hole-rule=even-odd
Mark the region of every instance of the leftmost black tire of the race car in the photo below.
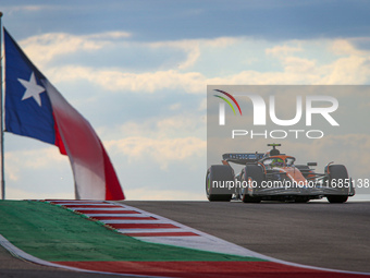
<svg viewBox="0 0 370 278">
<path fill-rule="evenodd" d="M 233 193 L 229 188 L 215 188 L 212 186 L 213 181 L 219 184 L 225 184 L 229 181 L 234 181 L 233 169 L 227 165 L 212 165 L 207 170 L 206 176 L 206 193 L 207 198 L 210 202 L 229 202 L 232 198 Z"/>
</svg>

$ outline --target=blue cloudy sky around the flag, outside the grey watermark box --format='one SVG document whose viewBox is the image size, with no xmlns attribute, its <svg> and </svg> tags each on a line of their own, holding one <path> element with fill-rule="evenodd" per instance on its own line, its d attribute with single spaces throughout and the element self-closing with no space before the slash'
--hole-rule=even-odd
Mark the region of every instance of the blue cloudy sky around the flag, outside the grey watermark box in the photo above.
<svg viewBox="0 0 370 278">
<path fill-rule="evenodd" d="M 96 129 L 128 200 L 206 198 L 207 85 L 370 83 L 363 0 L 0 8 L 28 58 Z M 369 150 L 369 132 L 360 138 Z M 5 134 L 5 176 L 8 198 L 74 197 L 67 157 L 32 138 Z"/>
</svg>

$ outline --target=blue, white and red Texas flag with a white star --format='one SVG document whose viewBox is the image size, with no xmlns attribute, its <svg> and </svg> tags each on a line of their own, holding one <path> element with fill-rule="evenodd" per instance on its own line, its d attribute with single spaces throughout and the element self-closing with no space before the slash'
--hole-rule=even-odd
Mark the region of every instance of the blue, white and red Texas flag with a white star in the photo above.
<svg viewBox="0 0 370 278">
<path fill-rule="evenodd" d="M 71 161 L 77 200 L 124 200 L 98 135 L 4 29 L 5 130 L 59 147 Z"/>
</svg>

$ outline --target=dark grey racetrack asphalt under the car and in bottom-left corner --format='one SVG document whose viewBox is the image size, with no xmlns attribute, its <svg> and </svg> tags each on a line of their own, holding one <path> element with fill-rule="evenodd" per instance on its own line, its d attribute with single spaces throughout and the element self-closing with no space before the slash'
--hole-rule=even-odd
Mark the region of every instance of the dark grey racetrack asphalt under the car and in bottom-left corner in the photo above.
<svg viewBox="0 0 370 278">
<path fill-rule="evenodd" d="M 370 202 L 122 203 L 275 258 L 325 268 L 370 273 Z M 38 266 L 15 258 L 0 247 L 0 277 L 101 276 Z"/>
</svg>

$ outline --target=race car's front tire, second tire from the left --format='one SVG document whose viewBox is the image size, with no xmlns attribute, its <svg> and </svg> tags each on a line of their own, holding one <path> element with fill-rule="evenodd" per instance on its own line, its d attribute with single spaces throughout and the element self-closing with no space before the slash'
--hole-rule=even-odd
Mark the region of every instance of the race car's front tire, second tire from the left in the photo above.
<svg viewBox="0 0 370 278">
<path fill-rule="evenodd" d="M 261 186 L 264 180 L 264 173 L 261 167 L 257 165 L 248 165 L 244 168 L 242 181 L 246 182 L 246 186 L 242 190 L 243 203 L 260 203 L 261 197 L 254 196 L 256 189 Z"/>
</svg>

